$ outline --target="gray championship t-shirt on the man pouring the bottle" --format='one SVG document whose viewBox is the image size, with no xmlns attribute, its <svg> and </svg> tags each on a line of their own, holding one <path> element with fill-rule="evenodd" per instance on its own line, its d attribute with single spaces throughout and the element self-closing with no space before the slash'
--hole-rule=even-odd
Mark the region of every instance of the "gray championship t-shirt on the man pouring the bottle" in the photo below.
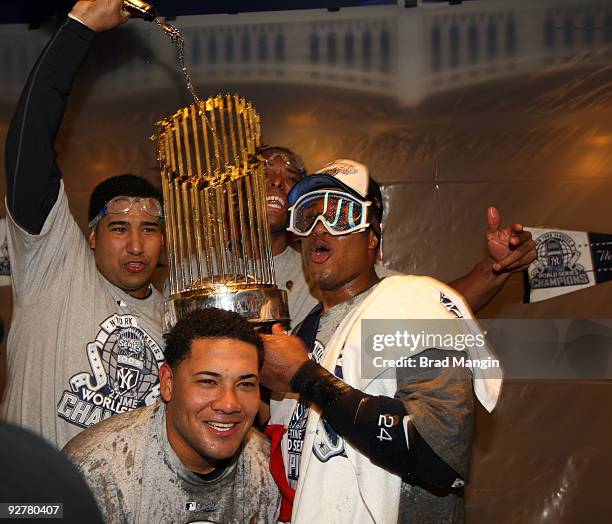
<svg viewBox="0 0 612 524">
<path fill-rule="evenodd" d="M 39 235 L 8 217 L 13 319 L 0 418 L 58 448 L 84 428 L 155 403 L 163 297 L 136 299 L 96 269 L 63 183 Z"/>
</svg>

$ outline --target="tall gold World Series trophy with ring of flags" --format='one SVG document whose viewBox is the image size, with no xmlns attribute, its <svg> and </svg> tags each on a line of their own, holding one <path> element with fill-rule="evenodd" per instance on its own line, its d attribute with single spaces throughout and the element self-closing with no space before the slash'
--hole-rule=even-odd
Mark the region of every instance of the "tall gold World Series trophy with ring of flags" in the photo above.
<svg viewBox="0 0 612 524">
<path fill-rule="evenodd" d="M 258 324 L 289 319 L 277 288 L 266 209 L 260 118 L 238 95 L 218 95 L 157 122 L 170 299 L 166 328 L 218 307 Z"/>
</svg>

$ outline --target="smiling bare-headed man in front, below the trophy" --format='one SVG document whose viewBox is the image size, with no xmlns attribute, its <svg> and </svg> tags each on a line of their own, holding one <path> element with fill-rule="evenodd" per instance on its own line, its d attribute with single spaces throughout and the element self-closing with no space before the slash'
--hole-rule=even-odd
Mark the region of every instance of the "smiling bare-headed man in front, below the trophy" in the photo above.
<svg viewBox="0 0 612 524">
<path fill-rule="evenodd" d="M 165 336 L 164 403 L 84 431 L 64 451 L 106 522 L 276 522 L 270 445 L 252 429 L 263 342 L 236 313 L 195 311 Z"/>
</svg>

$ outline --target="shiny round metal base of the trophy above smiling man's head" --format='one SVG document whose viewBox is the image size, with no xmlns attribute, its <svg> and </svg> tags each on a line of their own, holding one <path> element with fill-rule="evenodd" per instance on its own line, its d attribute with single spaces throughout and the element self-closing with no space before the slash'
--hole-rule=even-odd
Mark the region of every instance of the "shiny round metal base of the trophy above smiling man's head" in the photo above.
<svg viewBox="0 0 612 524">
<path fill-rule="evenodd" d="M 164 331 L 196 309 L 216 307 L 233 311 L 255 324 L 271 325 L 289 322 L 287 292 L 276 287 L 253 287 L 227 293 L 190 294 L 166 302 Z"/>
</svg>

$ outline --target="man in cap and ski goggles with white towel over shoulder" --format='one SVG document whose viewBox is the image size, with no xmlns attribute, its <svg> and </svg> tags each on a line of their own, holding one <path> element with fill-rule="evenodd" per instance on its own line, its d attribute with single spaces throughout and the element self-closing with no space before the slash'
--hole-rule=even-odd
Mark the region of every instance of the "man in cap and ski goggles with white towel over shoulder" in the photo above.
<svg viewBox="0 0 612 524">
<path fill-rule="evenodd" d="M 469 468 L 470 372 L 407 366 L 385 373 L 386 380 L 370 380 L 361 373 L 362 356 L 368 358 L 361 321 L 453 322 L 469 318 L 468 307 L 428 277 L 378 278 L 382 199 L 366 166 L 351 160 L 328 164 L 296 184 L 289 202 L 290 227 L 303 236 L 303 258 L 321 304 L 297 337 L 279 326 L 273 335 L 262 335 L 262 382 L 289 393 L 275 404 L 267 430 L 271 469 L 284 496 L 279 520 L 417 523 L 425 521 L 425 511 L 437 521 L 452 521 L 462 512 L 455 488 L 464 485 Z M 463 324 L 462 329 L 469 331 Z M 428 361 L 450 358 L 444 349 L 420 351 Z M 490 386 L 476 388 L 488 410 L 497 401 L 499 380 Z"/>
</svg>

